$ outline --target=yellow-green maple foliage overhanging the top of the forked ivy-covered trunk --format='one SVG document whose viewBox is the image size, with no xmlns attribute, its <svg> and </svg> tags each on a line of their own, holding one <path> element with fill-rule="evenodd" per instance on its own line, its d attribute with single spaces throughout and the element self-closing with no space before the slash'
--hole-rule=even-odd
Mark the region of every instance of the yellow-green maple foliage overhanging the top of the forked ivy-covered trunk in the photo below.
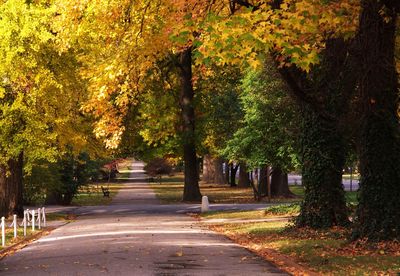
<svg viewBox="0 0 400 276">
<path fill-rule="evenodd" d="M 217 61 L 256 60 L 273 50 L 282 65 L 294 63 L 305 71 L 319 62 L 319 53 L 331 37 L 354 34 L 359 3 L 347 1 L 287 0 L 279 9 L 262 5 L 234 16 L 210 17 L 201 52 Z M 222 52 L 230 54 L 221 54 Z"/>
</svg>

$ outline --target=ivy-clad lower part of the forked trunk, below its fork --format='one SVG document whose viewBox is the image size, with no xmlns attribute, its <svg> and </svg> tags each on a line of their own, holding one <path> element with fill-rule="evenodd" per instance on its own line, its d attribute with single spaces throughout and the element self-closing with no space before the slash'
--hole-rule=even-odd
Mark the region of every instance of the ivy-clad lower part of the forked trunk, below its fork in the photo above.
<svg viewBox="0 0 400 276">
<path fill-rule="evenodd" d="M 296 224 L 313 228 L 346 225 L 349 220 L 342 185 L 345 152 L 338 126 L 307 105 L 302 113 L 305 197 Z"/>
</svg>

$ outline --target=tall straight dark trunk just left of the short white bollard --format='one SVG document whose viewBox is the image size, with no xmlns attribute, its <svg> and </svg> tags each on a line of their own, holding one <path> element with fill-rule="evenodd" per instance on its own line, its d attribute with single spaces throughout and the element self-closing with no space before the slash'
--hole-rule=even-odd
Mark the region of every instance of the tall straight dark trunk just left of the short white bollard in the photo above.
<svg viewBox="0 0 400 276">
<path fill-rule="evenodd" d="M 183 201 L 200 201 L 199 176 L 195 143 L 194 90 L 192 83 L 192 49 L 185 49 L 179 57 L 181 73 L 180 105 L 183 120 L 183 160 L 185 162 L 185 185 Z"/>
</svg>

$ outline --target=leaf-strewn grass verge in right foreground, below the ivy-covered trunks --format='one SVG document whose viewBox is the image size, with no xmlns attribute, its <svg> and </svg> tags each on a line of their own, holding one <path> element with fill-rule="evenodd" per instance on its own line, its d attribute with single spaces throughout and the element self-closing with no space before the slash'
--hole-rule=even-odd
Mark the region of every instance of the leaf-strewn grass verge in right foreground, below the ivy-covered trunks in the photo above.
<svg viewBox="0 0 400 276">
<path fill-rule="evenodd" d="M 350 243 L 347 229 L 287 228 L 284 221 L 209 226 L 295 275 L 396 275 L 400 243 Z"/>
</svg>

